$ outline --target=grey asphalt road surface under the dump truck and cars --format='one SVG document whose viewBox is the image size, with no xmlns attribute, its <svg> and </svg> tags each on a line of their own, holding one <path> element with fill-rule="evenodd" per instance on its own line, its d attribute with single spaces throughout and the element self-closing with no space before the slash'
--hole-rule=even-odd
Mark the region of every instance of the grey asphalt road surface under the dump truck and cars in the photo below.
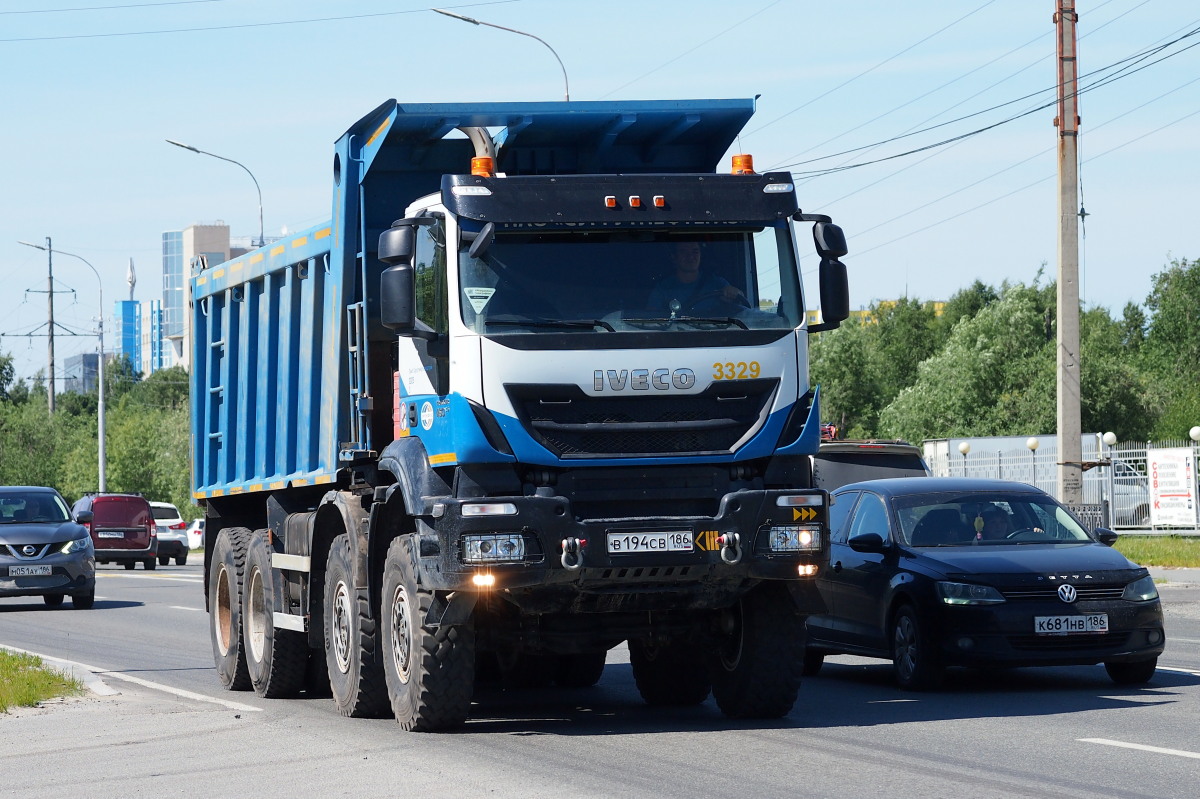
<svg viewBox="0 0 1200 799">
<path fill-rule="evenodd" d="M 618 648 L 594 689 L 484 692 L 462 732 L 424 735 L 222 691 L 199 569 L 102 567 L 91 611 L 0 600 L 0 645 L 109 691 L 0 716 L 0 795 L 1192 799 L 1200 774 L 1200 585 L 1162 589 L 1145 687 L 1099 666 L 956 669 L 916 695 L 883 661 L 834 657 L 787 719 L 730 722 L 712 701 L 647 708 Z"/>
</svg>

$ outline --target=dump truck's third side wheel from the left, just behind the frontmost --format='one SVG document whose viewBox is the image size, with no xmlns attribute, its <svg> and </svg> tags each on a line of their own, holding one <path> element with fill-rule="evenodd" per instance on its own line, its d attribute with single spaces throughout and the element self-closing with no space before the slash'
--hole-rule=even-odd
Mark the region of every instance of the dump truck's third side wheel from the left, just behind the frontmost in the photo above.
<svg viewBox="0 0 1200 799">
<path fill-rule="evenodd" d="M 379 662 L 378 624 L 366 588 L 354 587 L 350 539 L 329 546 L 325 567 L 325 662 L 337 711 L 352 719 L 388 715 L 388 690 Z"/>
</svg>

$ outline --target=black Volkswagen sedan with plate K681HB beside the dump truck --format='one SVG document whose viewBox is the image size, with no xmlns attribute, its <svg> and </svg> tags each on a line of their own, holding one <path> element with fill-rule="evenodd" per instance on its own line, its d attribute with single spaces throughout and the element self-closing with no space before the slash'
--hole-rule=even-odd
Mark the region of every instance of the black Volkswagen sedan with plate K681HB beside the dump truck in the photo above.
<svg viewBox="0 0 1200 799">
<path fill-rule="evenodd" d="M 1001 480 L 870 480 L 833 492 L 805 673 L 829 654 L 884 657 L 900 687 L 947 666 L 1104 663 L 1145 683 L 1163 651 L 1154 581 L 1045 492 Z"/>
</svg>

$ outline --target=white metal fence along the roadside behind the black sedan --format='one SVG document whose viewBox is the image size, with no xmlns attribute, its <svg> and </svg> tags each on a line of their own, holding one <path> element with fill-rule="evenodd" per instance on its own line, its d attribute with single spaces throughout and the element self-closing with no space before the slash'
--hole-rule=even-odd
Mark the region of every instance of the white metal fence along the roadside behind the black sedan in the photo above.
<svg viewBox="0 0 1200 799">
<path fill-rule="evenodd" d="M 1084 471 L 1084 505 L 1072 510 L 1078 510 L 1076 515 L 1092 527 L 1200 533 L 1200 517 L 1183 528 L 1151 524 L 1147 455 L 1150 450 L 1169 447 L 1190 447 L 1193 462 L 1200 464 L 1198 446 L 1189 440 L 1120 441 L 1111 447 L 1085 445 L 1084 462 L 1093 465 Z M 966 456 L 926 451 L 926 461 L 935 475 L 1015 480 L 1037 486 L 1052 497 L 1058 494 L 1058 452 L 1054 444 L 1043 444 L 1032 451 L 1024 447 L 986 451 L 976 445 Z M 1196 512 L 1200 513 L 1200 509 Z"/>
</svg>

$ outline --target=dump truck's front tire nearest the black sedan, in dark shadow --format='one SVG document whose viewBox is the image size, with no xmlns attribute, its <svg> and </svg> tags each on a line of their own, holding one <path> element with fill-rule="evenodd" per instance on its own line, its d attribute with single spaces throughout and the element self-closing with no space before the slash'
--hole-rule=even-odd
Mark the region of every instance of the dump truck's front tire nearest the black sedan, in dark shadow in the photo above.
<svg viewBox="0 0 1200 799">
<path fill-rule="evenodd" d="M 804 619 L 782 585 L 767 584 L 733 608 L 733 630 L 713 667 L 713 698 L 731 719 L 779 719 L 796 704 L 804 669 Z"/>
</svg>

